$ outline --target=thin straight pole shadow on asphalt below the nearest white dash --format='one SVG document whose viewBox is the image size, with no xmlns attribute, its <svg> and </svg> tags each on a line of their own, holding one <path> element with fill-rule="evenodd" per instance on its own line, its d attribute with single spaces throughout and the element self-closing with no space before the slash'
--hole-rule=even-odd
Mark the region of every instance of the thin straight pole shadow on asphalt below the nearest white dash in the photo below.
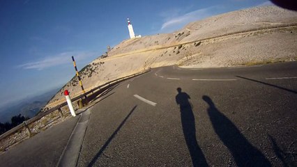
<svg viewBox="0 0 297 167">
<path fill-rule="evenodd" d="M 89 163 L 88 166 L 93 166 L 95 164 L 95 162 L 97 161 L 97 159 L 100 158 L 102 152 L 107 148 L 107 146 L 109 145 L 109 143 L 112 141 L 112 139 L 114 138 L 114 136 L 116 136 L 116 134 L 119 132 L 119 130 L 121 129 L 121 127 L 123 127 L 123 125 L 125 124 L 125 121 L 128 120 L 128 118 L 130 117 L 130 115 L 133 113 L 133 111 L 136 109 L 137 106 L 134 106 L 133 109 L 130 111 L 130 113 L 128 113 L 128 115 L 125 117 L 125 119 L 121 122 L 121 124 L 119 125 L 118 128 L 116 128 L 116 130 L 114 131 L 114 133 L 112 134 L 112 136 L 110 136 L 108 138 L 108 140 L 105 142 L 105 144 L 102 146 L 102 148 L 99 150 L 99 152 L 93 157 L 92 161 Z"/>
</svg>

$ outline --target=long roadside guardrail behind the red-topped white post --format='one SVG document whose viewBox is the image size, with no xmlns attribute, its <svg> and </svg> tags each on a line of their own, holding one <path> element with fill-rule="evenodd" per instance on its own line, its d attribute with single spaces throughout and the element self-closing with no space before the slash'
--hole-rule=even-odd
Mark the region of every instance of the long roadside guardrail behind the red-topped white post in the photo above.
<svg viewBox="0 0 297 167">
<path fill-rule="evenodd" d="M 149 72 L 149 71 L 150 71 L 150 69 L 149 69 L 149 70 L 144 70 L 144 71 L 142 71 L 142 72 L 138 72 L 138 73 L 136 73 L 136 74 L 128 75 L 128 76 L 126 76 L 126 77 L 121 77 L 121 78 L 119 78 L 119 79 L 115 79 L 115 80 L 113 80 L 113 81 L 109 81 L 109 82 L 107 82 L 107 83 L 105 83 L 105 84 L 103 84 L 103 85 L 97 86 L 96 88 L 93 88 L 93 89 L 87 91 L 87 92 L 84 93 L 83 95 L 79 95 L 79 96 L 77 96 L 77 97 L 72 98 L 71 101 L 72 101 L 72 102 L 75 102 L 75 101 L 77 101 L 77 100 L 82 99 L 82 97 L 84 97 L 85 95 L 89 95 L 89 94 L 91 94 L 91 93 L 93 93 L 93 94 L 96 93 L 96 95 L 99 95 L 100 93 L 104 92 L 104 91 L 107 90 L 108 88 L 110 88 L 110 87 L 112 87 L 112 86 L 114 86 L 114 85 L 116 85 L 116 84 L 119 84 L 119 83 L 122 82 L 122 81 L 125 81 L 125 80 L 127 80 L 127 79 L 130 79 L 130 78 L 132 78 L 132 77 L 136 77 L 136 76 L 138 76 L 138 75 L 140 75 L 140 74 L 144 74 L 144 73 Z M 92 95 L 90 95 L 90 97 L 91 97 L 91 96 L 92 96 Z M 89 98 L 89 97 L 87 97 L 87 99 L 88 99 L 88 98 Z M 91 97 L 91 98 L 93 98 L 93 97 Z M 88 100 L 90 100 L 90 98 L 89 98 Z M 67 102 L 63 102 L 63 103 L 61 103 L 61 104 L 58 104 L 58 105 L 54 106 L 52 109 L 49 109 L 49 110 L 47 110 L 47 111 L 45 111 L 45 112 L 43 112 L 43 113 L 40 113 L 39 115 L 37 115 L 37 116 L 35 116 L 35 117 L 33 117 L 33 118 L 29 119 L 29 120 L 26 120 L 26 121 L 22 122 L 22 124 L 17 125 L 16 127 L 13 127 L 13 129 L 10 129 L 8 132 L 5 132 L 4 134 L 1 134 L 1 136 L 0 136 L 0 141 L 1 141 L 2 139 L 4 139 L 4 138 L 6 138 L 6 137 L 8 137 L 8 136 L 10 136 L 10 135 L 12 135 L 12 134 L 14 134 L 15 132 L 19 131 L 20 129 L 22 129 L 22 128 L 24 128 L 24 127 L 26 127 L 26 132 L 27 132 L 28 136 L 31 136 L 31 130 L 30 130 L 30 128 L 29 128 L 29 125 L 30 125 L 31 123 L 36 122 L 36 120 L 40 120 L 40 118 L 43 118 L 44 116 L 47 116 L 48 114 L 50 114 L 50 113 L 52 113 L 52 112 L 54 112 L 54 111 L 56 111 L 56 110 L 59 111 L 60 116 L 63 116 L 63 113 L 62 113 L 62 111 L 61 111 L 61 108 L 62 108 L 63 106 L 66 106 L 66 105 L 67 105 Z"/>
</svg>

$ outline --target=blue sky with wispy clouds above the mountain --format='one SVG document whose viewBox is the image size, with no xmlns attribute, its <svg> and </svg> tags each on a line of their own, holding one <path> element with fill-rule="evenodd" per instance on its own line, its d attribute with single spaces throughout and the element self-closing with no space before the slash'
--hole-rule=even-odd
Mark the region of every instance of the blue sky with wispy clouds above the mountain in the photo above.
<svg viewBox="0 0 297 167">
<path fill-rule="evenodd" d="M 0 106 L 58 88 L 105 53 L 107 45 L 136 35 L 169 33 L 189 22 L 242 8 L 252 0 L 2 0 L 0 1 Z"/>
</svg>

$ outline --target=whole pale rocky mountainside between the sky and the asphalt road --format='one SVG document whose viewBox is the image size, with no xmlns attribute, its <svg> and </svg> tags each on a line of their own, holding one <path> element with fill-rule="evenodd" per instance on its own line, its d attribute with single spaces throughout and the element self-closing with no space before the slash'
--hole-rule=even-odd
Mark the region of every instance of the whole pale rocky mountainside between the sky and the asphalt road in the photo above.
<svg viewBox="0 0 297 167">
<path fill-rule="evenodd" d="M 282 26 L 282 27 L 280 27 Z M 86 90 L 148 67 L 226 67 L 295 61 L 297 13 L 275 6 L 248 8 L 192 22 L 174 33 L 124 40 L 81 70 Z M 63 90 L 81 93 L 77 77 L 47 104 L 63 102 Z"/>
</svg>

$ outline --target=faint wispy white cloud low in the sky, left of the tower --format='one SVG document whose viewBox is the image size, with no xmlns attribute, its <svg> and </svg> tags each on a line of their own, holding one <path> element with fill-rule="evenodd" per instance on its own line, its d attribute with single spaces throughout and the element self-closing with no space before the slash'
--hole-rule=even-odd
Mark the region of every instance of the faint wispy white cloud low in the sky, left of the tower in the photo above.
<svg viewBox="0 0 297 167">
<path fill-rule="evenodd" d="M 69 51 L 69 52 L 56 54 L 54 56 L 48 56 L 46 58 L 43 58 L 43 60 L 40 60 L 40 61 L 33 61 L 29 63 L 24 63 L 22 65 L 17 65 L 17 67 L 21 67 L 23 69 L 43 70 L 48 67 L 54 67 L 57 65 L 71 63 L 72 61 L 71 56 L 75 56 L 75 60 L 79 61 L 94 55 L 95 55 L 94 53 L 90 53 L 90 52 Z"/>
</svg>

